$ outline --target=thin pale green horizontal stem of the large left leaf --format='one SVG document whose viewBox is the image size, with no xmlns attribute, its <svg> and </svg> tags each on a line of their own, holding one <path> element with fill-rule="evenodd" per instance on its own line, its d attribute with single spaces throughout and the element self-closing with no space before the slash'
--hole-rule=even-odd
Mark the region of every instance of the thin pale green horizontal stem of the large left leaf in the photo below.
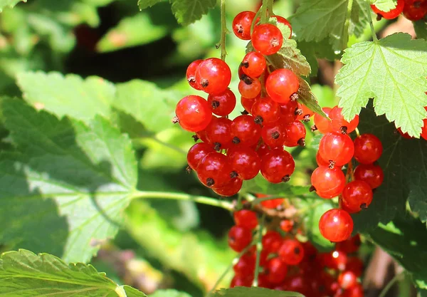
<svg viewBox="0 0 427 297">
<path fill-rule="evenodd" d="M 176 192 L 152 192 L 152 191 L 136 191 L 132 194 L 132 199 L 147 198 L 147 199 L 174 199 L 174 200 L 189 200 L 201 204 L 211 205 L 213 207 L 221 207 L 229 211 L 233 211 L 234 207 L 231 202 L 218 200 L 211 197 L 195 196 L 185 193 Z"/>
</svg>

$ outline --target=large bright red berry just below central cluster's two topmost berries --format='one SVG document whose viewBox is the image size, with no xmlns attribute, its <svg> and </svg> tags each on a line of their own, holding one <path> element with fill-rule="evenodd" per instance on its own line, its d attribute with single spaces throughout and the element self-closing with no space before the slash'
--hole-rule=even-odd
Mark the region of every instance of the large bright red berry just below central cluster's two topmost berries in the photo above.
<svg viewBox="0 0 427 297">
<path fill-rule="evenodd" d="M 277 53 L 283 44 L 282 33 L 272 24 L 255 26 L 251 37 L 253 48 L 265 56 Z"/>
</svg>

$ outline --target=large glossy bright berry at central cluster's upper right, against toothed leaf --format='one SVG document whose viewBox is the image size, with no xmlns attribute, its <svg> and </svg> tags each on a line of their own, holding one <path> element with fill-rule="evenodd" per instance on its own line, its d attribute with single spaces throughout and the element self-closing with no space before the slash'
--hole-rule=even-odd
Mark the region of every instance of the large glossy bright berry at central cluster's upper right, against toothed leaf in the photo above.
<svg viewBox="0 0 427 297">
<path fill-rule="evenodd" d="M 265 90 L 271 99 L 280 104 L 290 101 L 290 96 L 297 93 L 300 81 L 297 75 L 289 69 L 277 69 L 268 75 L 265 81 Z"/>
</svg>

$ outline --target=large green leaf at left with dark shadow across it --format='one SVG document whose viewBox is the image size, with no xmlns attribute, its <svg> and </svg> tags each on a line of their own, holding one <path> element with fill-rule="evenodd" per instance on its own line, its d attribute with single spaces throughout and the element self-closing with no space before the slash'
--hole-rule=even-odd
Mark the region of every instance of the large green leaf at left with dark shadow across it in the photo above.
<svg viewBox="0 0 427 297">
<path fill-rule="evenodd" d="M 58 120 L 22 100 L 1 100 L 1 112 L 23 154 L 0 158 L 1 243 L 89 261 L 135 191 L 130 140 L 103 118 Z"/>
</svg>

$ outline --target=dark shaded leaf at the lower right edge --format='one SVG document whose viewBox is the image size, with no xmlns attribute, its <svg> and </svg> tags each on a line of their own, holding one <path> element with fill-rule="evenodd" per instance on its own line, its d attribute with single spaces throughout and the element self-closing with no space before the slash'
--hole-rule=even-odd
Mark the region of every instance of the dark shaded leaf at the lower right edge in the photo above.
<svg viewBox="0 0 427 297">
<path fill-rule="evenodd" d="M 369 232 L 371 239 L 413 276 L 419 288 L 427 288 L 426 225 L 406 215 Z"/>
</svg>

